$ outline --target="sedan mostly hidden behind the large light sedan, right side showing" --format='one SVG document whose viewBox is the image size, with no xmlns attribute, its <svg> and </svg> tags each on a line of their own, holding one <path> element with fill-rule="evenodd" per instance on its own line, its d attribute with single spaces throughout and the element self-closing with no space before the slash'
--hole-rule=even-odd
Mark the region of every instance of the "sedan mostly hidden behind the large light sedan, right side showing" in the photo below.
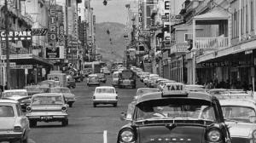
<svg viewBox="0 0 256 143">
<path fill-rule="evenodd" d="M 69 107 L 73 106 L 73 103 L 76 101 L 75 94 L 73 94 L 70 89 L 64 87 L 55 87 L 50 88 L 49 93 L 60 93 L 65 97 L 65 101 Z"/>
</svg>

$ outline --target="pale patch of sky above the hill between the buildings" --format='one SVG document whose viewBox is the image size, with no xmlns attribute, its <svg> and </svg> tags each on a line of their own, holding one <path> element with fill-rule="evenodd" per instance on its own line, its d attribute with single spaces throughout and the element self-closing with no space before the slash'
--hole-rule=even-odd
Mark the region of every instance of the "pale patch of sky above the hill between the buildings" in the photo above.
<svg viewBox="0 0 256 143">
<path fill-rule="evenodd" d="M 118 22 L 125 24 L 127 20 L 127 9 L 125 4 L 128 0 L 108 0 L 108 4 L 103 5 L 103 0 L 91 0 L 90 5 L 96 15 L 96 23 Z"/>
</svg>

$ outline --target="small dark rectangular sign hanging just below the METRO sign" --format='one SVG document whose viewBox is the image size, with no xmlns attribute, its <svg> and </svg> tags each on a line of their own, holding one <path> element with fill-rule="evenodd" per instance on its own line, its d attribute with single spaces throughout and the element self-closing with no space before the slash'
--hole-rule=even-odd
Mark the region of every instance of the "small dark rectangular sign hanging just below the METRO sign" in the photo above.
<svg viewBox="0 0 256 143">
<path fill-rule="evenodd" d="M 47 59 L 64 59 L 64 46 L 46 47 Z"/>
</svg>

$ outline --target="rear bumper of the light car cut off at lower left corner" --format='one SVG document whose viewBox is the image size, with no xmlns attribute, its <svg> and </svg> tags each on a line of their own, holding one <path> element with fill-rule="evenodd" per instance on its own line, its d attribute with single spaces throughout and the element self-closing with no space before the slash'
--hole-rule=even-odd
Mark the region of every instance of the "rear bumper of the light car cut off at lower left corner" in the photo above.
<svg viewBox="0 0 256 143">
<path fill-rule="evenodd" d="M 13 141 L 22 138 L 22 132 L 2 132 L 0 131 L 0 141 Z"/>
</svg>

